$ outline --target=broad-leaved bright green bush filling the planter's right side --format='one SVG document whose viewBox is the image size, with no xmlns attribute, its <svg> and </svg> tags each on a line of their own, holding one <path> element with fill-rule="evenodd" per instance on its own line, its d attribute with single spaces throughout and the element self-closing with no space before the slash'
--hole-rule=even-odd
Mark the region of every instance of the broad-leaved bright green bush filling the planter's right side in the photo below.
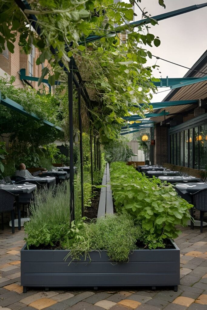
<svg viewBox="0 0 207 310">
<path fill-rule="evenodd" d="M 180 198 L 171 184 L 148 179 L 123 162 L 112 163 L 110 169 L 116 210 L 127 211 L 141 223 L 148 247 L 164 247 L 163 239 L 178 237 L 181 231 L 176 225 L 187 226 L 192 205 Z"/>
</svg>

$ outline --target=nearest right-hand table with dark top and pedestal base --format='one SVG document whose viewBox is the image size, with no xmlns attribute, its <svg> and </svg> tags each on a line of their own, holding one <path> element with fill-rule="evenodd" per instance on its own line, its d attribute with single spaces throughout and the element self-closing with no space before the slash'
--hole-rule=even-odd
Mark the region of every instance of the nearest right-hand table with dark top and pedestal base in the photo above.
<svg viewBox="0 0 207 310">
<path fill-rule="evenodd" d="M 184 183 L 184 184 L 181 183 L 181 184 L 176 184 L 175 187 L 178 188 L 182 194 L 188 194 L 188 196 L 191 198 L 191 203 L 193 204 L 193 195 L 201 191 L 202 189 L 207 189 L 207 183 L 203 183 L 203 182 L 197 182 L 197 183 L 190 182 L 190 183 Z M 191 216 L 193 216 L 193 212 L 191 213 Z M 188 223 L 188 225 L 190 224 Z M 200 226 L 200 221 L 196 220 L 194 225 Z M 207 223 L 203 222 L 203 226 L 206 226 L 206 225 Z"/>
</svg>

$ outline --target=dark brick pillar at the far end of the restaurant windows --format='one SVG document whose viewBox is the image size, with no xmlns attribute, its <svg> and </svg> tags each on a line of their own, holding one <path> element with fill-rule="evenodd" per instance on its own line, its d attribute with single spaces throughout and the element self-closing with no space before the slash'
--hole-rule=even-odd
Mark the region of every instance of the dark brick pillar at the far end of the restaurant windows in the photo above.
<svg viewBox="0 0 207 310">
<path fill-rule="evenodd" d="M 168 162 L 168 128 L 156 126 L 154 139 L 154 163 L 155 165 L 163 165 Z"/>
</svg>

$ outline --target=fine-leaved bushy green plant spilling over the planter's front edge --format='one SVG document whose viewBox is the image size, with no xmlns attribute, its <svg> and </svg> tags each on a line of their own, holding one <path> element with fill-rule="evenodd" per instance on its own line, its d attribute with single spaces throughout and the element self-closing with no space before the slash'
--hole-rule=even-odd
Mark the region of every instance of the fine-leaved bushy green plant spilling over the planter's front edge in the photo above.
<svg viewBox="0 0 207 310">
<path fill-rule="evenodd" d="M 70 249 L 70 256 L 79 259 L 87 257 L 90 250 L 106 250 L 110 260 L 128 261 L 131 250 L 137 249 L 137 239 L 142 237 L 142 229 L 135 225 L 129 214 L 107 214 L 90 224 L 85 224 L 79 231 L 82 238 L 70 242 L 65 238 L 61 246 Z M 66 257 L 67 259 L 67 257 Z"/>
</svg>

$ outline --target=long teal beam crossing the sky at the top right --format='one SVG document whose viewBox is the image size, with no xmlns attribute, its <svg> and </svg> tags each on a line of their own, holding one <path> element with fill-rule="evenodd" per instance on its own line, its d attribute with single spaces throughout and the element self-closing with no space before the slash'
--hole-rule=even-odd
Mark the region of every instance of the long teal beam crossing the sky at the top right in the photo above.
<svg viewBox="0 0 207 310">
<path fill-rule="evenodd" d="M 181 15 L 181 14 L 184 14 L 184 13 L 188 13 L 188 12 L 191 12 L 191 11 L 194 11 L 194 10 L 197 10 L 197 9 L 201 9 L 203 7 L 206 7 L 206 6 L 207 6 L 207 2 L 202 3 L 202 4 L 196 4 L 196 5 L 192 5 L 190 7 L 184 7 L 184 8 L 179 9 L 179 10 L 170 11 L 170 12 L 167 12 L 167 13 L 164 13 L 164 14 L 155 15 L 155 16 L 152 16 L 151 19 L 154 19 L 154 20 L 157 20 L 157 21 L 165 20 L 167 18 L 178 16 L 178 15 Z M 151 22 L 150 20 L 151 19 L 148 17 L 146 19 L 137 20 L 135 22 L 129 23 L 129 25 L 131 25 L 133 27 L 137 27 L 137 26 L 143 25 L 143 24 L 150 24 L 150 22 Z M 97 40 L 100 40 L 103 37 L 106 37 L 106 38 L 110 37 L 113 33 L 116 35 L 116 33 L 120 33 L 121 32 L 121 30 L 119 30 L 119 29 L 120 29 L 120 26 L 116 27 L 115 31 L 111 31 L 110 33 L 108 33 L 108 34 L 106 34 L 104 36 L 103 35 L 101 35 L 101 36 L 95 36 L 95 35 L 88 36 L 88 38 L 85 38 L 83 41 L 79 42 L 79 45 L 85 45 L 86 43 L 95 42 Z"/>
</svg>

